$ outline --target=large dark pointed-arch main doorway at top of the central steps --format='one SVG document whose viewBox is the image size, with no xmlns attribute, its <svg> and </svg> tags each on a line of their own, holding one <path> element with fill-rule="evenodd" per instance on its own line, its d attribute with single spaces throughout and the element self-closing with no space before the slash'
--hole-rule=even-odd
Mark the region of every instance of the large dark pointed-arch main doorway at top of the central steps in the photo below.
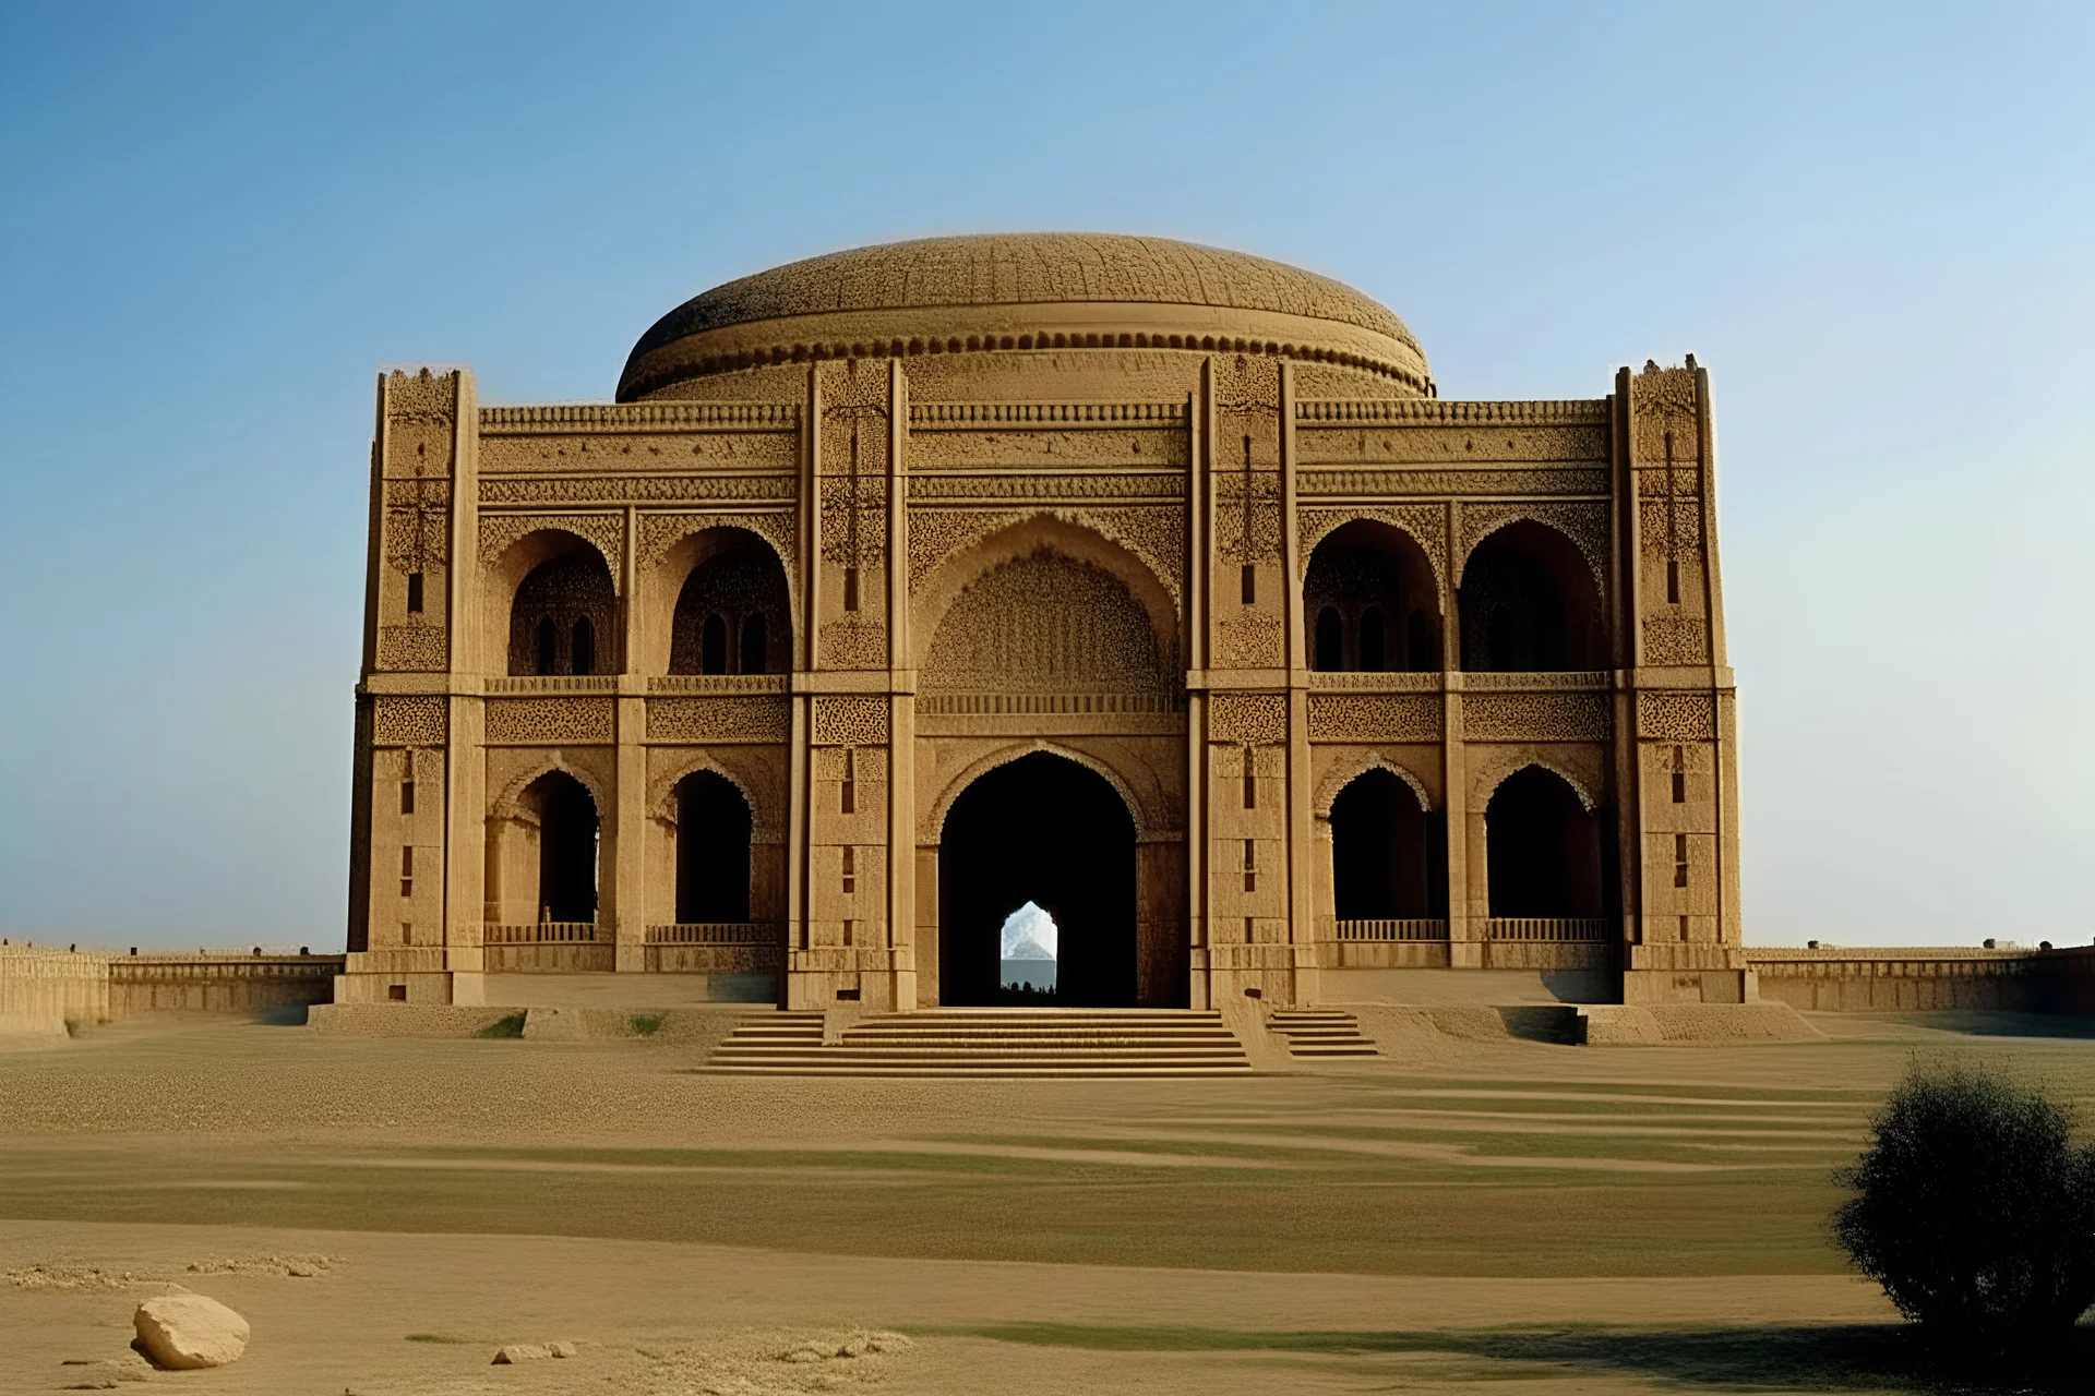
<svg viewBox="0 0 2095 1396">
<path fill-rule="evenodd" d="M 991 1005 L 1004 921 L 1037 904 L 1060 933 L 1056 1003 L 1135 1003 L 1135 820 L 1077 762 L 1035 751 L 960 793 L 939 843 L 939 1000 Z"/>
</svg>

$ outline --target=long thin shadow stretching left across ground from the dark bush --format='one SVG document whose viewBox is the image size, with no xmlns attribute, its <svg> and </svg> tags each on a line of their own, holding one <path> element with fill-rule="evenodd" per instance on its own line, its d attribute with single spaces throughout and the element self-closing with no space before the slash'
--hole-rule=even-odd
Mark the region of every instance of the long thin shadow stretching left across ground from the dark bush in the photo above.
<svg viewBox="0 0 2095 1396">
<path fill-rule="evenodd" d="M 1869 1325 L 1741 1325 L 1722 1329 L 1448 1329 L 1418 1333 L 1247 1333 L 1192 1327 L 1006 1323 L 926 1329 L 993 1342 L 1106 1352 L 1276 1352 L 1297 1356 L 1471 1358 L 1475 1377 L 1615 1375 L 1672 1388 L 1774 1392 L 2087 1392 L 2095 1329 L 2038 1367 L 1955 1360 L 1917 1329 Z M 1513 1365 L 1519 1371 L 1506 1371 Z M 1554 1371 L 1552 1371 L 1554 1369 Z"/>
</svg>

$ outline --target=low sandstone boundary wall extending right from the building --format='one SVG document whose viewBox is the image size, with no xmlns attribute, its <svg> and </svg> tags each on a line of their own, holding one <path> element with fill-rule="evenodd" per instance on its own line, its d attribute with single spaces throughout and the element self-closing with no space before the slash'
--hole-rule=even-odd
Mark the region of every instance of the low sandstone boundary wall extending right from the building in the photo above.
<svg viewBox="0 0 2095 1396">
<path fill-rule="evenodd" d="M 2003 1009 L 2095 1013 L 2095 948 L 1756 950 L 1760 996 L 1821 1013 Z"/>
</svg>

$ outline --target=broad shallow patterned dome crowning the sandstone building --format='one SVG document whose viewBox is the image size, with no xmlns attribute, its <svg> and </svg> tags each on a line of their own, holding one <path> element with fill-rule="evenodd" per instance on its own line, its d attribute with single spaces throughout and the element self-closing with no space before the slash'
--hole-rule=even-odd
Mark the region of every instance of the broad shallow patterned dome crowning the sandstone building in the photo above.
<svg viewBox="0 0 2095 1396">
<path fill-rule="evenodd" d="M 1427 381 L 1360 291 L 1238 251 L 1108 232 L 857 247 L 696 295 L 641 335 L 618 398 L 767 362 L 1014 347 L 1261 350 Z"/>
</svg>

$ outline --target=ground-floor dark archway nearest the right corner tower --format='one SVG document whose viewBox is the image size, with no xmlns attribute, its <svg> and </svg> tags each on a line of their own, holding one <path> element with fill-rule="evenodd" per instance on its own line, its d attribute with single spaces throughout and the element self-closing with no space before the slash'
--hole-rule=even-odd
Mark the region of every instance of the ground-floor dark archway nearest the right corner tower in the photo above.
<svg viewBox="0 0 2095 1396">
<path fill-rule="evenodd" d="M 1527 766 L 1500 781 L 1483 831 L 1494 917 L 1607 915 L 1601 814 L 1554 770 Z"/>
</svg>

